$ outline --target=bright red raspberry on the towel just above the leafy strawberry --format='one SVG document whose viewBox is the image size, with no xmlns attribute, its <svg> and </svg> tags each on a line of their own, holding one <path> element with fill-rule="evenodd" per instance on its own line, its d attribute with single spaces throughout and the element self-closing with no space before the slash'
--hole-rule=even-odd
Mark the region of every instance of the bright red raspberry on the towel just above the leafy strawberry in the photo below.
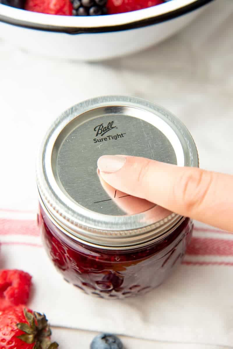
<svg viewBox="0 0 233 349">
<path fill-rule="evenodd" d="M 26 304 L 31 288 L 31 275 L 22 270 L 0 270 L 0 310 Z"/>
</svg>

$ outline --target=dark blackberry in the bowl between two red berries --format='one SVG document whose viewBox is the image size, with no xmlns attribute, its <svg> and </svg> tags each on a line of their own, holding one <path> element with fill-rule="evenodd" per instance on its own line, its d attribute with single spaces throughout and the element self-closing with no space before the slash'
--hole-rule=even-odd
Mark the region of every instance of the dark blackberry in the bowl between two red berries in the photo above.
<svg viewBox="0 0 233 349">
<path fill-rule="evenodd" d="M 71 3 L 73 5 L 73 16 L 100 16 L 107 14 L 107 0 L 71 0 Z"/>
</svg>

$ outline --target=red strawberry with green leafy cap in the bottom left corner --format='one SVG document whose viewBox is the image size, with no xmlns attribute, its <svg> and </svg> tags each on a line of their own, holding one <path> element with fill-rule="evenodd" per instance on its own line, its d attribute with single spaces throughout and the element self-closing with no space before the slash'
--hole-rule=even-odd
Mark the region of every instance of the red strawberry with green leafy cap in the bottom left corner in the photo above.
<svg viewBox="0 0 233 349">
<path fill-rule="evenodd" d="M 0 312 L 0 348 L 55 349 L 45 315 L 19 305 Z"/>
</svg>

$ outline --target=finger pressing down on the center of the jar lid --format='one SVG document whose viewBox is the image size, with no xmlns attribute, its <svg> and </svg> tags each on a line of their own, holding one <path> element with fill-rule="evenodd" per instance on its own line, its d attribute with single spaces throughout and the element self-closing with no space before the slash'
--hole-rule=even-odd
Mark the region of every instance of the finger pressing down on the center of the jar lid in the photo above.
<svg viewBox="0 0 233 349">
<path fill-rule="evenodd" d="M 101 177 L 117 190 L 233 232 L 233 176 L 142 157 L 103 155 Z"/>
</svg>

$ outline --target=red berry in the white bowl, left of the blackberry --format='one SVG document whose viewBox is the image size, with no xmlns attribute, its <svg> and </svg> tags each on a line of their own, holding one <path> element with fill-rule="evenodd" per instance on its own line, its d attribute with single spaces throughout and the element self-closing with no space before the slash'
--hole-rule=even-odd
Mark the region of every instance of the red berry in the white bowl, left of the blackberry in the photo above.
<svg viewBox="0 0 233 349">
<path fill-rule="evenodd" d="M 51 15 L 71 16 L 73 6 L 70 0 L 26 0 L 25 9 Z"/>
</svg>

